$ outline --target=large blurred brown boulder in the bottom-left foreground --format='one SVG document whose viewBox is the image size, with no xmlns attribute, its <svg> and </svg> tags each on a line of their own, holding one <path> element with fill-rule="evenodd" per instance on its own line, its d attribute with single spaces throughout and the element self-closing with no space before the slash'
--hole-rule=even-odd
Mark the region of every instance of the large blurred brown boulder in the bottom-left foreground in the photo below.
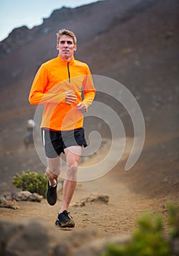
<svg viewBox="0 0 179 256">
<path fill-rule="evenodd" d="M 0 219 L 0 230 L 0 255 L 51 256 L 64 240 L 60 230 L 41 219 Z M 65 252 L 69 246 L 66 245 Z"/>
</svg>

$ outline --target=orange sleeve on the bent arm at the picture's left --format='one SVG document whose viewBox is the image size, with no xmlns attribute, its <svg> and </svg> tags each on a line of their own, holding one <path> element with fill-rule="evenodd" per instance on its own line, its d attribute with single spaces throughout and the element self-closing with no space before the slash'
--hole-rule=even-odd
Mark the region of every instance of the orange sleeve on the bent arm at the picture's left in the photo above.
<svg viewBox="0 0 179 256">
<path fill-rule="evenodd" d="M 48 71 L 42 64 L 33 80 L 28 97 L 28 100 L 32 105 L 65 102 L 65 93 L 55 94 L 52 93 L 52 91 L 46 91 L 48 83 Z"/>
</svg>

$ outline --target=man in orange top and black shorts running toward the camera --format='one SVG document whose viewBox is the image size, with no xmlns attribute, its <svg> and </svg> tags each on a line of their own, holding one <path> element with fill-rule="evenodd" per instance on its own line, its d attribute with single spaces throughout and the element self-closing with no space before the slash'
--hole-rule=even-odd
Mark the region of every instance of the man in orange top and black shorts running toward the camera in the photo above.
<svg viewBox="0 0 179 256">
<path fill-rule="evenodd" d="M 57 33 L 58 56 L 41 65 L 33 80 L 29 102 L 44 105 L 41 135 L 47 157 L 47 202 L 57 201 L 57 177 L 60 175 L 60 154 L 65 153 L 66 177 L 63 200 L 55 225 L 74 227 L 68 206 L 77 183 L 77 167 L 84 138 L 83 113 L 92 104 L 95 88 L 87 64 L 74 59 L 76 36 L 62 29 Z M 81 91 L 81 88 L 83 91 Z"/>
</svg>

